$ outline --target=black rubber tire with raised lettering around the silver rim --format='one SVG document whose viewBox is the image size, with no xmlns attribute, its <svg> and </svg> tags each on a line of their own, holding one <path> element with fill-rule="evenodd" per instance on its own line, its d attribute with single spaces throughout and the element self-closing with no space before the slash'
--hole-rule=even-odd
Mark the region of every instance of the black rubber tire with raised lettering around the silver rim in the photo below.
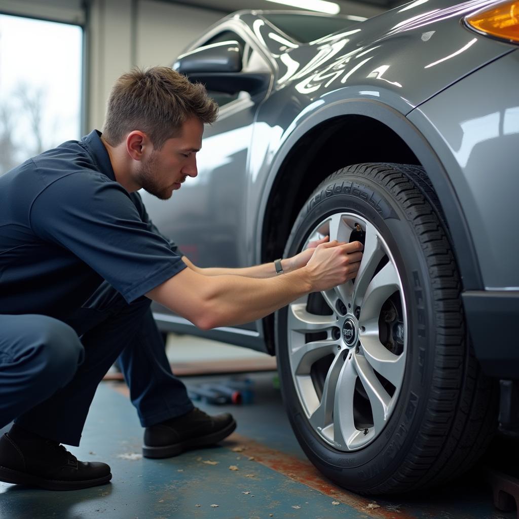
<svg viewBox="0 0 519 519">
<path fill-rule="evenodd" d="M 377 229 L 400 276 L 407 302 L 402 385 L 382 432 L 356 450 L 335 448 L 311 425 L 290 365 L 289 307 L 276 313 L 281 390 L 297 440 L 327 477 L 366 495 L 452 479 L 484 453 L 497 425 L 497 388 L 466 336 L 457 266 L 424 178 L 418 166 L 385 163 L 333 173 L 299 213 L 285 250 L 285 257 L 300 251 L 329 215 L 352 213 Z"/>
</svg>

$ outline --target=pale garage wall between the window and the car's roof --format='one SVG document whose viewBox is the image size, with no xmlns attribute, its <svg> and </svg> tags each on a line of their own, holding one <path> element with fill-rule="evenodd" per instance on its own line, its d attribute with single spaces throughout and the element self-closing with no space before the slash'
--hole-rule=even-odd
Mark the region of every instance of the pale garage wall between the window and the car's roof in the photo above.
<svg viewBox="0 0 519 519">
<path fill-rule="evenodd" d="M 170 66 L 222 14 L 153 0 L 92 0 L 86 128 L 101 128 L 115 79 L 132 66 Z"/>
</svg>

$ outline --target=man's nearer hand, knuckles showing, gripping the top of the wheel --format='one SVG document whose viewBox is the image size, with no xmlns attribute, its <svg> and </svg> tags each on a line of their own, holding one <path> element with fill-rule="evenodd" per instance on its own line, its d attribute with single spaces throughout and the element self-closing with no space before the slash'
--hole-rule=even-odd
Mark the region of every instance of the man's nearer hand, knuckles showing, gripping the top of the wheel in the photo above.
<svg viewBox="0 0 519 519">
<path fill-rule="evenodd" d="M 313 291 L 330 290 L 356 277 L 363 248 L 360 241 L 319 244 L 304 267 Z"/>
</svg>

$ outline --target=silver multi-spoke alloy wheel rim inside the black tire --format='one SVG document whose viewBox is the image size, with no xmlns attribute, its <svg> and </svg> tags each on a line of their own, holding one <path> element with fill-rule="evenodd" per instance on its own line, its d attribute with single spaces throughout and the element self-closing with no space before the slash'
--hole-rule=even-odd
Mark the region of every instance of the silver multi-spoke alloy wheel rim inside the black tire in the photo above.
<svg viewBox="0 0 519 519">
<path fill-rule="evenodd" d="M 305 243 L 364 242 L 357 277 L 289 305 L 291 373 L 313 430 L 338 450 L 358 450 L 377 438 L 398 399 L 407 353 L 405 297 L 397 265 L 379 231 L 365 218 L 334 213 Z"/>
</svg>

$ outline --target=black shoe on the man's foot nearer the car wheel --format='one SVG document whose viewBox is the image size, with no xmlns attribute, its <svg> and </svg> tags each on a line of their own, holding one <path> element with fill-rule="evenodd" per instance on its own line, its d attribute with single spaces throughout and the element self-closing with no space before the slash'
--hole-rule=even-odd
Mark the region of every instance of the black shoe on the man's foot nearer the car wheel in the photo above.
<svg viewBox="0 0 519 519">
<path fill-rule="evenodd" d="M 236 421 L 229 413 L 209 416 L 195 407 L 186 415 L 146 427 L 142 455 L 145 458 L 170 458 L 187 449 L 220 442 L 235 429 Z"/>
</svg>

